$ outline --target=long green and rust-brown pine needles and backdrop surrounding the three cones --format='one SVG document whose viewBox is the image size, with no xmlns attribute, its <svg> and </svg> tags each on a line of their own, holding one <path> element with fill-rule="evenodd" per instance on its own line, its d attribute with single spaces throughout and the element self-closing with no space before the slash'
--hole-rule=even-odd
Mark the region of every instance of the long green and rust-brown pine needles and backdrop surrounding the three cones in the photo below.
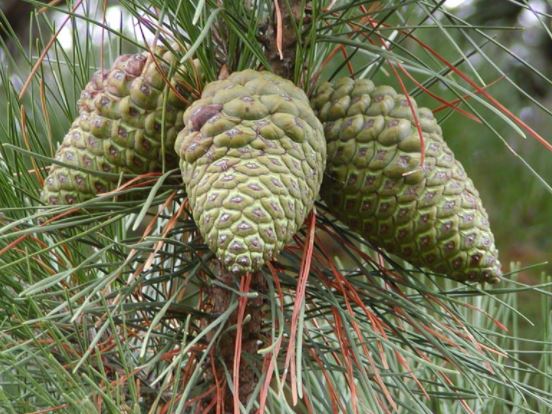
<svg viewBox="0 0 552 414">
<path fill-rule="evenodd" d="M 8 3 L 2 4 L 6 11 Z M 195 50 L 207 79 L 214 79 L 216 48 L 205 28 L 214 28 L 217 19 L 231 28 L 231 69 L 264 63 L 254 29 L 272 1 L 257 2 L 254 13 L 241 2 L 145 3 L 55 1 L 46 7 L 29 1 L 30 24 L 11 25 L 18 33 L 10 28 L 10 14 L 0 21 L 5 412 L 208 410 L 218 387 L 206 362 L 216 360 L 218 339 L 239 298 L 255 297 L 232 285 L 236 294 L 227 312 L 212 314 L 202 306 L 218 282 L 176 171 L 135 177 L 135 186 L 118 193 L 132 192 L 134 201 L 108 195 L 84 203 L 85 215 L 37 222 L 47 214 L 37 201 L 44 169 L 76 116 L 79 91 L 98 67 L 162 33 Z M 359 21 L 361 3 L 377 29 L 366 21 L 348 24 Z M 347 73 L 350 62 L 357 75 L 397 85 L 389 62 L 398 59 L 433 93 L 459 100 L 482 120 L 466 119 L 450 105 L 437 112 L 489 209 L 503 263 L 521 264 L 492 289 L 449 282 L 385 257 L 319 205 L 316 238 L 306 227 L 279 264 L 264 272 L 267 343 L 259 358 L 274 361 L 275 372 L 270 387 L 261 381 L 257 392 L 266 396 L 267 412 L 550 411 L 552 280 L 546 276 L 550 265 L 542 265 L 552 249 L 550 153 L 531 137 L 523 139 L 509 117 L 497 115 L 481 94 L 404 35 L 430 45 L 550 141 L 551 7 L 544 1 L 492 4 L 337 2 L 333 14 L 314 8 L 320 26 L 308 34 L 317 45 L 305 58 L 311 75 L 318 69 L 320 78 Z M 16 16 L 12 23 L 27 19 Z M 338 50 L 325 61 L 339 44 L 347 45 L 346 53 Z M 311 77 L 300 75 L 293 76 L 309 89 Z M 422 104 L 441 105 L 401 77 Z M 64 209 L 49 217 L 56 212 Z M 311 242 L 301 304 L 298 275 Z M 256 407 L 252 399 L 243 410 Z"/>
</svg>

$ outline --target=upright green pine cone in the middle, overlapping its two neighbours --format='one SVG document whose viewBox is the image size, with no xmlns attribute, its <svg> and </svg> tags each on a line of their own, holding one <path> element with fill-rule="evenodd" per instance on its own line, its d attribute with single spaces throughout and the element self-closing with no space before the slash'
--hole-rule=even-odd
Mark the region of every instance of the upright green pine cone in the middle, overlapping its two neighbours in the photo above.
<svg viewBox="0 0 552 414">
<path fill-rule="evenodd" d="M 207 85 L 184 124 L 175 148 L 201 234 L 231 272 L 259 269 L 318 195 L 322 124 L 301 89 L 253 70 Z"/>
</svg>

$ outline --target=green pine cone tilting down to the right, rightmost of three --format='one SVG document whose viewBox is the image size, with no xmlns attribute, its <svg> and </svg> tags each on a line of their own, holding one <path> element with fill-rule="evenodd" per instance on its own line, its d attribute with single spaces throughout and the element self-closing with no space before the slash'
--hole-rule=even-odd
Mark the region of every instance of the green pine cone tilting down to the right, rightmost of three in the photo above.
<svg viewBox="0 0 552 414">
<path fill-rule="evenodd" d="M 427 108 L 390 86 L 343 78 L 311 101 L 328 148 L 321 196 L 337 218 L 410 263 L 462 281 L 496 282 L 498 252 L 479 193 Z"/>
</svg>

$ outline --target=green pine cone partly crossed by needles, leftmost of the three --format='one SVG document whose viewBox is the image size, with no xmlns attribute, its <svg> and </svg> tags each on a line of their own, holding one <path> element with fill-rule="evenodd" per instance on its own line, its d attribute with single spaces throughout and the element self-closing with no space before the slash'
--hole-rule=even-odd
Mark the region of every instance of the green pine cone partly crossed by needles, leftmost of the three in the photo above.
<svg viewBox="0 0 552 414">
<path fill-rule="evenodd" d="M 174 141 L 184 127 L 186 108 L 181 96 L 188 94 L 175 74 L 165 98 L 175 57 L 161 48 L 156 54 L 155 60 L 147 52 L 122 55 L 111 69 L 94 74 L 81 93 L 79 117 L 63 138 L 56 160 L 95 172 L 143 174 L 160 171 L 164 157 L 168 168 L 176 168 Z M 52 165 L 41 193 L 45 204 L 82 202 L 113 190 L 118 181 L 117 176 L 70 166 Z"/>
</svg>

